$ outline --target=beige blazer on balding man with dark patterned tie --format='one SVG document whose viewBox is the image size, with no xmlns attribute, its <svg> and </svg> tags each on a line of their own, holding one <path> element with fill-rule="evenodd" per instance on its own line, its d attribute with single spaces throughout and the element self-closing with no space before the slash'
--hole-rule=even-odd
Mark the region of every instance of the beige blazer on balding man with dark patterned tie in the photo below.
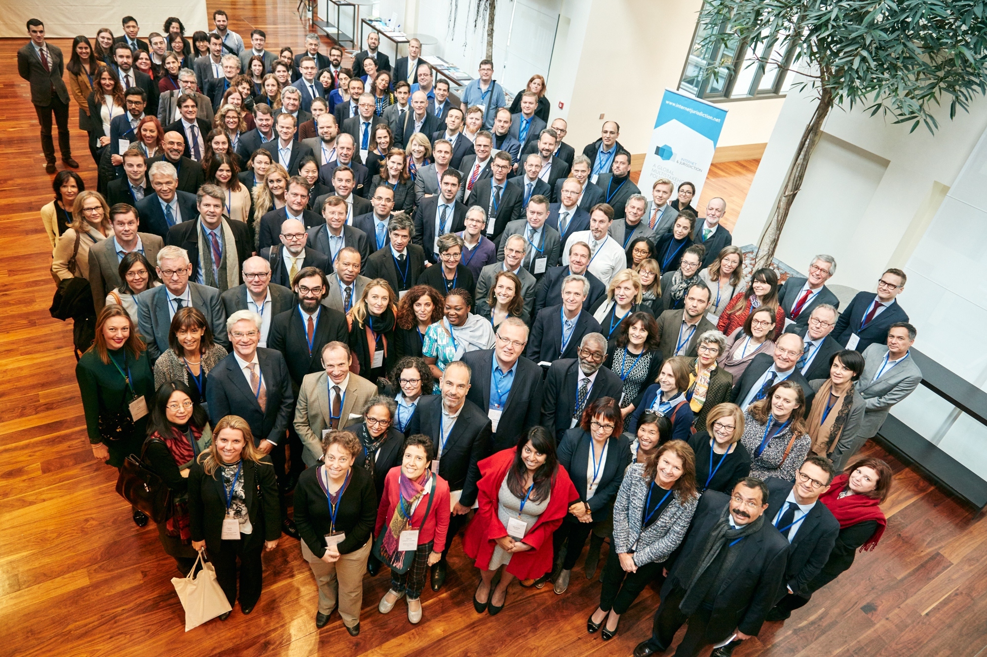
<svg viewBox="0 0 987 657">
<path fill-rule="evenodd" d="M 322 432 L 329 428 L 329 389 L 325 372 L 306 374 L 295 403 L 295 431 L 305 450 L 302 460 L 308 467 L 322 459 Z M 340 428 L 363 420 L 363 406 L 377 394 L 377 386 L 350 372 L 340 409 Z"/>
</svg>

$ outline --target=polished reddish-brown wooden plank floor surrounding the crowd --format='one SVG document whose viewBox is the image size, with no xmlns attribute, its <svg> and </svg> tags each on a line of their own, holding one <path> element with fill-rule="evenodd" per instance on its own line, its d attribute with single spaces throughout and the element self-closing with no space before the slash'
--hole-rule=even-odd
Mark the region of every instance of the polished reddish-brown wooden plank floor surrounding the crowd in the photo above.
<svg viewBox="0 0 987 657">
<path fill-rule="evenodd" d="M 241 35 L 256 26 L 271 45 L 302 42 L 294 3 L 224 7 Z M 351 638 L 338 616 L 316 630 L 314 581 L 298 544 L 282 537 L 265 556 L 264 594 L 252 616 L 237 611 L 224 623 L 184 631 L 170 582 L 174 562 L 153 527 L 131 522 L 114 493 L 115 471 L 92 458 L 71 327 L 47 313 L 53 288 L 38 208 L 51 197 L 51 178 L 43 172 L 27 85 L 13 65 L 22 44 L 0 40 L 0 57 L 9 63 L 0 70 L 7 163 L 0 170 L 0 655 L 630 654 L 649 632 L 655 590 L 645 591 L 606 644 L 585 632 L 599 581 L 583 577 L 581 561 L 565 595 L 515 586 L 497 618 L 478 616 L 470 603 L 477 573 L 459 539 L 444 589 L 422 596 L 418 626 L 408 623 L 403 604 L 390 616 L 377 613 L 387 589 L 379 575 L 366 580 L 359 637 Z M 66 52 L 70 45 L 56 44 Z M 92 186 L 96 171 L 84 133 L 73 127 L 72 141 Z M 728 215 L 735 216 L 745 192 L 737 171 L 749 176 L 754 169 L 756 162 L 714 167 L 707 189 L 733 194 Z M 868 451 L 888 458 L 879 448 Z M 973 656 L 987 644 L 987 522 L 974 521 L 968 508 L 888 460 L 896 491 L 878 549 L 859 556 L 791 620 L 766 623 L 738 657 Z"/>
</svg>

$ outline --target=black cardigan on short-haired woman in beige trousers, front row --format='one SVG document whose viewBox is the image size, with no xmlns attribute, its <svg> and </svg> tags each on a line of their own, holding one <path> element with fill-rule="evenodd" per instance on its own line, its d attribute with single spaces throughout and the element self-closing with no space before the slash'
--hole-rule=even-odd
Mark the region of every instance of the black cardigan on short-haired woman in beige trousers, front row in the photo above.
<svg viewBox="0 0 987 657">
<path fill-rule="evenodd" d="M 298 477 L 295 486 L 295 527 L 312 553 L 322 558 L 326 553 L 326 535 L 330 533 L 329 499 L 319 484 L 319 468 L 309 468 Z M 336 531 L 346 538 L 337 549 L 341 554 L 363 547 L 370 539 L 377 520 L 377 491 L 373 476 L 353 466 L 352 476 L 342 491 L 336 515 Z"/>
</svg>

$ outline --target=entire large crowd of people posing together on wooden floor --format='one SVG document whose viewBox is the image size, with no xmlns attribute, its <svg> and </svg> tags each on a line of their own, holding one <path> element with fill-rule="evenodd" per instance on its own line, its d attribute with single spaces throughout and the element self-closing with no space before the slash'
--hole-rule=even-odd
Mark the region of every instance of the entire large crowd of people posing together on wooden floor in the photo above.
<svg viewBox="0 0 987 657">
<path fill-rule="evenodd" d="M 370 33 L 347 68 L 212 18 L 145 42 L 125 17 L 67 63 L 32 19 L 18 54 L 49 173 L 52 114 L 78 166 L 66 88 L 99 168 L 40 211 L 53 277 L 92 289 L 93 453 L 160 474 L 183 573 L 204 550 L 250 614 L 286 534 L 317 627 L 356 635 L 385 565 L 379 612 L 420 621 L 457 535 L 491 616 L 609 542 L 587 630 L 663 580 L 635 654 L 688 622 L 676 654 L 722 656 L 877 544 L 891 472 L 856 454 L 921 380 L 904 272 L 840 313 L 833 257 L 745 273 L 722 198 L 645 197 L 613 120 L 569 146 L 542 76 L 508 107 L 485 59 L 457 104 L 417 39 L 392 66 Z"/>
</svg>

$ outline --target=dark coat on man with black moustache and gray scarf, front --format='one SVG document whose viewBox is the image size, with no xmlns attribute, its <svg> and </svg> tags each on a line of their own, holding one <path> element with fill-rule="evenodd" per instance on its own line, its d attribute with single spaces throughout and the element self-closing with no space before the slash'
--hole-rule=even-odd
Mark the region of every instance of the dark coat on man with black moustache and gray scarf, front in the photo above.
<svg viewBox="0 0 987 657">
<path fill-rule="evenodd" d="M 661 599 L 668 598 L 674 590 L 685 590 L 703 558 L 710 534 L 720 521 L 729 497 L 716 490 L 707 490 L 699 500 L 692 516 L 689 534 L 680 547 L 673 565 L 668 567 L 668 577 L 661 586 Z M 778 591 L 785 588 L 785 566 L 788 562 L 789 542 L 770 523 L 744 538 L 737 547 L 737 567 L 717 576 L 716 599 L 713 613 L 706 626 L 707 643 L 720 641 L 734 629 L 756 636 L 764 623 L 764 617 L 778 600 Z M 739 564 L 743 564 L 742 566 Z"/>
</svg>

